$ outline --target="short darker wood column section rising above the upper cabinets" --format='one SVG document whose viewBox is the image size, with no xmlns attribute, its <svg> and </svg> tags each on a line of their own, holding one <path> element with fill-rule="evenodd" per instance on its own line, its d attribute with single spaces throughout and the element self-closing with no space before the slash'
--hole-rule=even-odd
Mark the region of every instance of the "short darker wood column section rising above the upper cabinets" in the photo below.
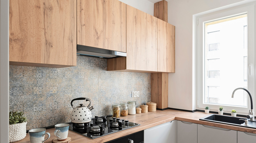
<svg viewBox="0 0 256 143">
<path fill-rule="evenodd" d="M 168 2 L 162 0 L 154 4 L 154 16 L 168 22 Z"/>
</svg>

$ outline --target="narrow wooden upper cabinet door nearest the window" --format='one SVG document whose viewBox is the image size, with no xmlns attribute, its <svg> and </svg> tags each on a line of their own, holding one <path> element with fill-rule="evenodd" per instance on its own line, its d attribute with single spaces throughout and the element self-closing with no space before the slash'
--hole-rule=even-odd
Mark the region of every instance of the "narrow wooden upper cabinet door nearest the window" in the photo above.
<svg viewBox="0 0 256 143">
<path fill-rule="evenodd" d="M 158 19 L 157 71 L 175 72 L 175 26 Z"/>
</svg>

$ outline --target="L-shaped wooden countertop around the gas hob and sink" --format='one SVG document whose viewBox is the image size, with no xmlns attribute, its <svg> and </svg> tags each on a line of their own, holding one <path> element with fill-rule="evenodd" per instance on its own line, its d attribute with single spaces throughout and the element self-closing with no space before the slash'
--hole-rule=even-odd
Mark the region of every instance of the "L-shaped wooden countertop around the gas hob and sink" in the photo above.
<svg viewBox="0 0 256 143">
<path fill-rule="evenodd" d="M 168 121 L 172 120 L 181 120 L 181 121 L 187 121 L 187 122 L 192 122 L 192 123 L 197 123 L 197 124 L 203 124 L 203 125 L 209 125 L 209 126 L 215 126 L 215 127 L 220 127 L 220 128 L 226 128 L 226 129 L 231 129 L 231 130 L 237 130 L 237 131 L 242 131 L 242 132 L 249 132 L 249 133 L 254 133 L 256 134 L 256 129 L 250 129 L 250 128 L 245 128 L 245 127 L 238 127 L 238 126 L 232 126 L 232 125 L 226 125 L 226 124 L 220 124 L 220 123 L 213 123 L 213 122 L 207 122 L 207 121 L 201 121 L 199 120 L 202 117 L 205 117 L 209 114 L 205 114 L 204 112 L 184 112 L 184 111 L 177 111 L 177 110 L 164 110 L 160 111 L 157 110 L 156 112 L 148 112 L 148 113 L 141 113 L 141 114 L 136 114 L 136 115 L 128 115 L 126 117 L 121 117 L 121 119 L 128 119 L 131 122 L 139 123 L 140 126 L 123 130 L 117 133 L 113 133 L 110 135 L 105 135 L 102 137 L 98 137 L 95 139 L 90 139 L 87 138 L 83 135 L 79 135 L 73 131 L 69 131 L 69 137 L 71 137 L 71 143 L 103 143 L 106 141 L 110 141 L 125 135 L 129 135 L 135 132 L 139 132 L 142 130 L 145 130 L 150 127 L 154 127 L 156 125 L 160 125 L 162 123 L 166 123 Z M 51 137 L 45 141 L 45 143 L 52 143 L 52 140 L 56 138 L 54 136 L 53 129 L 48 129 L 46 132 L 49 132 L 51 134 Z M 47 135 L 46 135 L 47 136 Z M 29 140 L 29 134 L 27 136 L 15 143 L 30 143 Z"/>
</svg>

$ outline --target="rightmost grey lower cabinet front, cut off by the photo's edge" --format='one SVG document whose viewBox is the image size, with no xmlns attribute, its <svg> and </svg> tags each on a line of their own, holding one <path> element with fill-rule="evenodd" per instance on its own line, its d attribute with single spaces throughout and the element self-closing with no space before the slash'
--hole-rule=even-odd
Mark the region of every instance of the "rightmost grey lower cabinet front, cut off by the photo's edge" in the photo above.
<svg viewBox="0 0 256 143">
<path fill-rule="evenodd" d="M 237 143 L 255 142 L 256 134 L 237 131 Z"/>
</svg>

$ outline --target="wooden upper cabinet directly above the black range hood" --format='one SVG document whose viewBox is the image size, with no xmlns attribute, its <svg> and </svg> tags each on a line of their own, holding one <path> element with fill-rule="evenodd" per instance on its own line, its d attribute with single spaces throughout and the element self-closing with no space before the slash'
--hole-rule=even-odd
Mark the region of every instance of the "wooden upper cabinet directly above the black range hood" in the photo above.
<svg viewBox="0 0 256 143">
<path fill-rule="evenodd" d="M 77 0 L 77 44 L 126 52 L 126 4 Z"/>
</svg>

